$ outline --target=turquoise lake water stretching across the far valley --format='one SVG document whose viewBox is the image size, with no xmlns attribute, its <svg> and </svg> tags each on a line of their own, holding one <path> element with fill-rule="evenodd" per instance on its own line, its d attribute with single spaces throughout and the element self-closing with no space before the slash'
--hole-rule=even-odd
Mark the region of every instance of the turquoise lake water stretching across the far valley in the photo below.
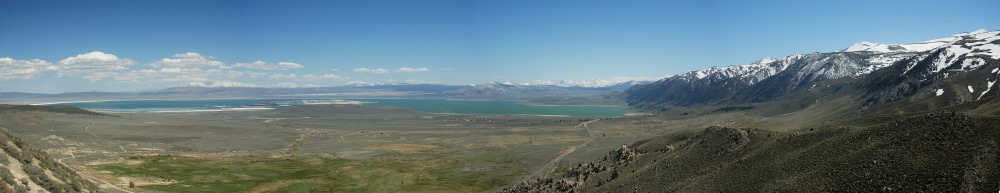
<svg viewBox="0 0 1000 193">
<path fill-rule="evenodd" d="M 465 101 L 446 99 L 197 99 L 197 100 L 122 100 L 67 102 L 43 105 L 69 105 L 104 112 L 193 112 L 269 110 L 302 105 L 360 104 L 399 106 L 428 113 L 552 116 L 621 116 L 628 113 L 620 106 L 526 105 L 517 101 Z"/>
</svg>

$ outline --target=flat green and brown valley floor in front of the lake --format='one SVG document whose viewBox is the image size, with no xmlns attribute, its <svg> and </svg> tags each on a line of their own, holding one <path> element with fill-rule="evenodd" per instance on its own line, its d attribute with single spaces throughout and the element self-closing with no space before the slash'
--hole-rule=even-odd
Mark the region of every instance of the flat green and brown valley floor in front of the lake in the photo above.
<svg viewBox="0 0 1000 193">
<path fill-rule="evenodd" d="M 670 130 L 359 105 L 108 115 L 17 111 L 0 125 L 108 192 L 486 192 Z"/>
</svg>

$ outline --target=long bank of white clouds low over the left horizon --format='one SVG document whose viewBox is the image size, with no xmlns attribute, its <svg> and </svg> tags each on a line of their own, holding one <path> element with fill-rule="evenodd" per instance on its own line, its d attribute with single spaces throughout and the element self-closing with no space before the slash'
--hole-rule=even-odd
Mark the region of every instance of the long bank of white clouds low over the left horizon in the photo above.
<svg viewBox="0 0 1000 193">
<path fill-rule="evenodd" d="M 166 84 L 216 87 L 298 87 L 302 82 L 322 82 L 348 80 L 350 77 L 336 74 L 281 74 L 260 70 L 290 70 L 304 68 L 294 62 L 225 64 L 196 52 L 171 55 L 169 58 L 135 67 L 137 62 L 104 52 L 89 52 L 68 57 L 57 63 L 40 59 L 15 60 L 0 58 L 0 81 L 11 79 L 34 79 L 41 76 L 79 77 L 90 81 L 112 79 L 118 82 L 137 84 Z M 410 69 L 404 71 L 419 71 Z M 334 71 L 338 71 L 334 69 Z M 357 69 L 370 73 L 391 73 L 377 69 Z M 262 84 L 262 79 L 288 80 L 280 84 Z M 253 83 L 246 83 L 253 82 Z M 268 81 L 278 82 L 278 81 Z M 180 83 L 180 84 L 178 84 Z M 308 85 L 308 84 L 307 84 Z"/>
</svg>

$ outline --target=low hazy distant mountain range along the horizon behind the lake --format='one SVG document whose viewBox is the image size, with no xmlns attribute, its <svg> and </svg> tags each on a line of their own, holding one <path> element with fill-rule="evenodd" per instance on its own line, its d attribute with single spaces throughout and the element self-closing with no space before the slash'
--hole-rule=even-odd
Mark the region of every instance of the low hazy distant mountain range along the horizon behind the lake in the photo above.
<svg viewBox="0 0 1000 193">
<path fill-rule="evenodd" d="M 613 84 L 612 84 L 613 83 Z M 523 94 L 601 94 L 623 91 L 650 81 L 533 81 L 529 83 L 489 82 L 471 85 L 409 84 L 397 82 L 361 82 L 336 87 L 298 87 L 294 85 L 248 85 L 227 82 L 191 84 L 144 92 L 71 92 L 59 94 L 0 92 L 0 100 L 26 103 L 50 100 L 110 100 L 149 98 L 222 98 L 222 97 L 474 97 L 510 98 Z M 18 99 L 18 100 L 11 100 Z M 25 101 L 23 99 L 31 99 Z M 17 102 L 25 101 L 25 102 Z"/>
</svg>

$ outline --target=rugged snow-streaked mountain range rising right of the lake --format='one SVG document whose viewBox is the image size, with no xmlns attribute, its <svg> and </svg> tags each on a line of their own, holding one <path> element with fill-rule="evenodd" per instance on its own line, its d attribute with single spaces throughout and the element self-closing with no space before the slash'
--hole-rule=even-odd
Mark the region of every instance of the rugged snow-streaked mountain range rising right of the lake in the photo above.
<svg viewBox="0 0 1000 193">
<path fill-rule="evenodd" d="M 808 93 L 856 95 L 865 105 L 907 97 L 957 104 L 998 95 L 998 59 L 1000 31 L 978 30 L 912 44 L 861 42 L 837 52 L 713 67 L 638 85 L 622 97 L 647 110 L 759 103 Z"/>
</svg>

